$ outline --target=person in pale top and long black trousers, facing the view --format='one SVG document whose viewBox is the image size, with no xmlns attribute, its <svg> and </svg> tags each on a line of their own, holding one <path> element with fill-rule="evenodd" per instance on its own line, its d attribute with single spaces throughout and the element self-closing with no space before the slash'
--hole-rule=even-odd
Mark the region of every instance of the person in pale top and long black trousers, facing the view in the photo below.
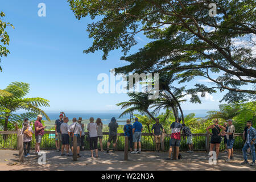
<svg viewBox="0 0 256 182">
<path fill-rule="evenodd" d="M 91 157 L 93 158 L 93 150 L 96 152 L 96 158 L 98 158 L 98 133 L 97 133 L 97 123 L 94 123 L 94 119 L 89 119 L 90 123 L 88 123 L 87 130 L 89 132 L 90 137 L 90 152 Z"/>
</svg>

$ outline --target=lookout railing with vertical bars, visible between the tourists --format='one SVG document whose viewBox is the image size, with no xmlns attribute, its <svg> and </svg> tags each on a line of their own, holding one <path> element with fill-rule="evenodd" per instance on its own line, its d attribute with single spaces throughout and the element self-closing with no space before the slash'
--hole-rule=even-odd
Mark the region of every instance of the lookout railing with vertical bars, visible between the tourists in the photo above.
<svg viewBox="0 0 256 182">
<path fill-rule="evenodd" d="M 85 133 L 85 135 L 88 133 Z M 102 138 L 102 144 L 104 150 L 106 150 L 107 142 L 108 142 L 109 133 L 104 132 Z M 210 136 L 209 134 L 192 134 L 193 135 L 193 146 L 195 151 L 209 151 L 209 142 Z M 234 142 L 234 150 L 241 150 L 244 144 L 242 139 L 242 134 L 234 134 L 235 142 Z M 171 134 L 165 134 L 164 140 L 162 142 L 162 146 L 164 150 L 167 151 L 170 147 L 170 139 Z M 187 150 L 186 144 L 187 138 L 181 134 L 180 141 L 180 150 Z M 17 149 L 18 138 L 17 131 L 0 131 L 0 149 Z M 85 150 L 89 150 L 89 142 L 86 142 L 84 139 Z M 142 133 L 141 137 L 141 145 L 142 150 L 144 151 L 152 151 L 155 150 L 155 142 L 154 136 L 151 133 Z M 45 131 L 42 143 L 42 149 L 55 149 L 55 131 Z M 100 148 L 100 143 L 98 143 L 98 147 Z M 34 134 L 32 136 L 31 148 L 35 148 L 35 137 Z M 110 145 L 110 148 L 113 148 L 113 144 Z M 125 137 L 123 133 L 118 133 L 117 146 L 116 150 L 124 150 L 125 148 Z M 221 142 L 220 150 L 224 150 L 224 139 Z"/>
</svg>

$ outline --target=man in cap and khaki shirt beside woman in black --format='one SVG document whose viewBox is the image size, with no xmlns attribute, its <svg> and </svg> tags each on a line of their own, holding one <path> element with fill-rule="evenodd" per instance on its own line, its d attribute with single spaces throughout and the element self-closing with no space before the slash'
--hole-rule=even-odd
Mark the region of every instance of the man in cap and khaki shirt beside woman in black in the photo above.
<svg viewBox="0 0 256 182">
<path fill-rule="evenodd" d="M 227 148 L 228 148 L 228 159 L 225 160 L 225 162 L 229 162 L 231 159 L 233 159 L 233 145 L 234 145 L 234 133 L 235 133 L 235 127 L 233 125 L 233 120 L 228 119 L 228 131 L 224 131 L 226 134 L 226 139 L 228 139 Z"/>
</svg>

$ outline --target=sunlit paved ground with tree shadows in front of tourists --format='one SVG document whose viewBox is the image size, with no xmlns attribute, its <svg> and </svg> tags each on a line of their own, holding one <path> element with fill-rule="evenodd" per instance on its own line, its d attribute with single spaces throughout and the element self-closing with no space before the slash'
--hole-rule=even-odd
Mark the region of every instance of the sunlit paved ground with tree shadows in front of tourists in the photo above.
<svg viewBox="0 0 256 182">
<path fill-rule="evenodd" d="M 34 151 L 32 151 L 34 152 Z M 227 154 L 221 153 L 217 165 L 208 163 L 206 152 L 188 154 L 181 152 L 183 159 L 166 161 L 167 152 L 142 152 L 142 154 L 129 154 L 129 160 L 123 160 L 123 152 L 99 152 L 99 158 L 90 158 L 90 151 L 81 152 L 82 158 L 72 161 L 72 156 L 60 156 L 60 152 L 47 150 L 46 164 L 39 165 L 39 156 L 31 155 L 18 162 L 18 151 L 0 150 L 0 170 L 255 170 L 249 164 L 242 166 L 242 154 L 234 154 L 232 162 L 224 162 Z M 251 156 L 249 156 L 251 161 Z"/>
</svg>

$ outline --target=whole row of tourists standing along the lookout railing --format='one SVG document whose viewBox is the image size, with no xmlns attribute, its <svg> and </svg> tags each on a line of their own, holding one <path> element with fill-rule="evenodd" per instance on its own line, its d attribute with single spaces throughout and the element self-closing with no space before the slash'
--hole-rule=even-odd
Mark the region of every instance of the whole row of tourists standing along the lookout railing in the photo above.
<svg viewBox="0 0 256 182">
<path fill-rule="evenodd" d="M 23 134 L 23 142 L 24 142 L 24 156 L 27 157 L 30 155 L 30 146 L 32 140 L 32 133 L 35 134 L 36 144 L 35 144 L 35 152 L 36 155 L 40 152 L 40 143 L 42 142 L 42 138 L 44 135 L 44 129 L 46 126 L 42 124 L 42 115 L 38 115 L 34 126 L 35 131 L 32 131 L 33 123 L 29 122 L 28 119 L 24 119 L 24 123 L 22 126 L 22 134 Z M 151 132 L 154 135 L 156 152 L 160 152 L 160 143 L 163 140 L 164 129 L 163 126 L 159 123 L 159 119 L 155 119 L 155 124 L 152 126 Z M 69 118 L 66 117 L 65 113 L 61 112 L 59 115 L 59 119 L 55 122 L 55 144 L 56 150 L 61 151 L 61 156 L 69 156 L 69 152 L 73 153 L 73 137 L 77 138 L 77 157 L 80 157 L 80 150 L 84 150 L 84 140 L 88 141 L 90 144 L 91 157 L 94 156 L 94 151 L 96 153 L 96 158 L 98 158 L 98 142 L 100 142 L 100 149 L 103 150 L 102 146 L 102 138 L 103 138 L 103 124 L 100 118 L 96 119 L 94 123 L 94 118 L 89 119 L 89 123 L 87 125 L 88 135 L 85 136 L 84 132 L 84 124 L 82 123 L 82 118 L 78 119 L 73 118 L 72 124 L 68 125 Z M 171 139 L 170 139 L 170 149 L 169 155 L 166 160 L 178 160 L 181 158 L 179 154 L 179 146 L 181 141 L 181 132 L 184 134 L 184 137 L 187 137 L 187 145 L 189 150 L 188 153 L 193 153 L 193 137 L 191 130 L 184 123 L 181 124 L 181 119 L 177 119 L 175 122 L 172 122 L 171 129 Z M 256 130 L 252 127 L 253 123 L 251 121 L 247 121 L 245 130 L 243 131 L 243 139 L 245 140 L 245 144 L 242 148 L 243 159 L 244 161 L 241 164 L 249 163 L 247 161 L 247 155 L 252 155 L 253 162 L 251 166 L 255 165 L 255 139 L 256 139 Z M 117 120 L 113 117 L 108 125 L 109 127 L 109 138 L 107 143 L 106 152 L 110 151 L 110 144 L 113 142 L 113 150 L 117 143 L 117 129 L 118 123 Z M 129 147 L 131 154 L 141 154 L 141 135 L 142 135 L 143 126 L 142 123 L 139 122 L 138 118 L 135 118 L 135 122 L 131 125 L 130 119 L 127 119 L 126 125 L 123 127 L 123 131 L 126 137 L 129 140 Z M 218 119 L 213 120 L 213 125 L 207 127 L 207 132 L 211 135 L 210 139 L 210 151 L 216 151 L 216 159 L 218 160 L 218 155 L 220 152 L 220 143 L 222 138 L 224 138 L 224 144 L 226 151 L 228 153 L 227 159 L 225 162 L 229 162 L 234 159 L 233 156 L 233 145 L 234 145 L 234 133 L 235 127 L 233 125 L 233 120 L 228 119 L 224 126 L 219 125 Z M 211 131 L 210 131 L 211 130 Z M 85 138 L 86 137 L 86 138 Z M 61 145 L 62 144 L 62 145 Z M 60 148 L 61 146 L 61 148 Z M 134 151 L 133 151 L 134 147 Z M 138 147 L 138 151 L 137 151 Z M 64 151 L 66 154 L 64 154 Z M 175 152 L 174 152 L 175 151 Z M 174 156 L 175 155 L 175 156 Z"/>
</svg>

